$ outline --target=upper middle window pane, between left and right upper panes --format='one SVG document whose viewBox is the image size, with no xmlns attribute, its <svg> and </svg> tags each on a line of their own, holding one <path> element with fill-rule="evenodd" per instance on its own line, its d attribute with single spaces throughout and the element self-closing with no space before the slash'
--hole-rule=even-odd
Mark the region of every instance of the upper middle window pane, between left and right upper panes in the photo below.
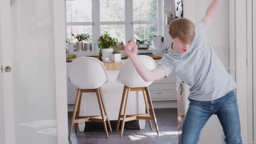
<svg viewBox="0 0 256 144">
<path fill-rule="evenodd" d="M 125 1 L 124 0 L 101 0 L 100 1 L 101 21 L 124 21 Z"/>
</svg>

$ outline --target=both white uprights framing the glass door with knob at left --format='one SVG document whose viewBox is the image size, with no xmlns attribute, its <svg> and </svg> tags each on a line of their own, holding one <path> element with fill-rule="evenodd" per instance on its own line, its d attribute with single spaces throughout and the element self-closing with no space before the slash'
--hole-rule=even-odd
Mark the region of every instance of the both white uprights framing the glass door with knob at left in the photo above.
<svg viewBox="0 0 256 144">
<path fill-rule="evenodd" d="M 0 3 L 0 34 L 5 37 L 0 39 L 0 67 L 1 65 L 13 68 L 12 46 L 11 46 L 11 13 L 10 0 Z M 1 19 L 1 17 L 4 17 Z M 67 117 L 67 78 L 66 78 L 66 53 L 65 53 L 65 1 L 53 0 L 53 26 L 54 26 L 54 64 L 55 64 L 55 97 L 56 97 L 56 134 L 57 143 L 68 143 L 68 117 Z M 10 47 L 10 49 L 2 49 Z M 4 54 L 3 54 L 4 53 Z M 15 144 L 15 118 L 14 118 L 14 95 L 13 95 L 13 73 L 1 73 L 0 112 L 3 129 L 0 134 L 4 142 Z M 3 107 L 3 109 L 2 109 Z M 2 118 L 3 117 L 3 118 Z M 0 125 L 1 126 L 1 125 Z"/>
</svg>

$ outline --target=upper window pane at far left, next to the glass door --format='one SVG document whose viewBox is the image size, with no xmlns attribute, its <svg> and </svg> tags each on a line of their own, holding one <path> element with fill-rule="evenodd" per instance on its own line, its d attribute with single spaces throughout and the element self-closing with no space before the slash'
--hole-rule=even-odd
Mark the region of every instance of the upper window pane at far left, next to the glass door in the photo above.
<svg viewBox="0 0 256 144">
<path fill-rule="evenodd" d="M 91 22 L 91 0 L 66 1 L 67 22 Z"/>
</svg>

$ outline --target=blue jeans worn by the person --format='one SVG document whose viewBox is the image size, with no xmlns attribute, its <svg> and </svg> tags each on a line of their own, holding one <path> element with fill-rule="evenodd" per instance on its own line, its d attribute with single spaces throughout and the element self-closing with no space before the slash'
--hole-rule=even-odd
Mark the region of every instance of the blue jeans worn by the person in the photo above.
<svg viewBox="0 0 256 144">
<path fill-rule="evenodd" d="M 234 91 L 213 101 L 189 99 L 189 109 L 182 130 L 182 144 L 196 144 L 207 120 L 214 114 L 219 118 L 228 144 L 242 143 L 240 120 Z"/>
</svg>

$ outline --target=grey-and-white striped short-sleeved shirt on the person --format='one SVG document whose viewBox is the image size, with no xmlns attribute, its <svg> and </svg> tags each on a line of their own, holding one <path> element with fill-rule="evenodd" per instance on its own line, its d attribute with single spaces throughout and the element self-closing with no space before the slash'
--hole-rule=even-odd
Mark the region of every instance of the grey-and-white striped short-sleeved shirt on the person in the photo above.
<svg viewBox="0 0 256 144">
<path fill-rule="evenodd" d="M 195 38 L 185 53 L 168 50 L 158 62 L 157 68 L 166 76 L 176 74 L 190 86 L 189 98 L 197 101 L 212 101 L 222 98 L 236 87 L 235 81 L 226 71 L 213 51 L 207 35 L 206 20 L 195 23 Z"/>
</svg>

